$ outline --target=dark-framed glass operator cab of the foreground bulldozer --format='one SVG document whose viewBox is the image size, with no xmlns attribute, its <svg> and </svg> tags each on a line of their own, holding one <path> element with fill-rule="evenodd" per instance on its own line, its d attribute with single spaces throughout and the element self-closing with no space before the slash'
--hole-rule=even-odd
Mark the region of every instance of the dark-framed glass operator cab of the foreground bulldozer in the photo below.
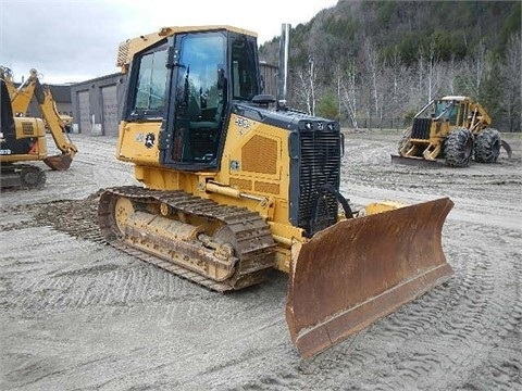
<svg viewBox="0 0 522 391">
<path fill-rule="evenodd" d="M 135 56 L 125 121 L 161 121 L 160 163 L 212 169 L 227 108 L 260 93 L 256 37 L 226 29 L 176 34 Z"/>
</svg>

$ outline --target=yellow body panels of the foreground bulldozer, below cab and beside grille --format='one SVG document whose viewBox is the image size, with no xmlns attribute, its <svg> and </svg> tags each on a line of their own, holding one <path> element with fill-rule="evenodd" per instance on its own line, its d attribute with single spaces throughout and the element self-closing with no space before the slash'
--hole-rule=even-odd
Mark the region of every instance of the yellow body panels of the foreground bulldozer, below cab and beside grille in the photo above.
<svg viewBox="0 0 522 391">
<path fill-rule="evenodd" d="M 239 127 L 237 123 L 241 123 Z M 123 123 L 120 128 L 116 159 L 135 163 L 136 179 L 147 188 L 183 190 L 219 204 L 247 207 L 269 222 L 281 245 L 277 267 L 289 270 L 289 244 L 300 238 L 302 229 L 288 222 L 289 156 L 287 131 L 232 115 L 219 172 L 181 172 L 165 169 L 159 151 L 146 148 L 146 135 L 158 139 L 160 124 L 142 126 Z M 150 137 L 150 136 L 149 136 Z M 231 168 L 241 162 L 241 169 Z"/>
</svg>

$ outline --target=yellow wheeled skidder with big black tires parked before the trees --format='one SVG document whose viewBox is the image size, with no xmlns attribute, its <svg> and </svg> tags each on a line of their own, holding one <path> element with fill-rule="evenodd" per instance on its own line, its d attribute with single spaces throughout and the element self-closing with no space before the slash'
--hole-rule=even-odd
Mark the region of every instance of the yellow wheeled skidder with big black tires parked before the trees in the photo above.
<svg viewBox="0 0 522 391">
<path fill-rule="evenodd" d="M 449 96 L 434 99 L 413 117 L 413 125 L 399 140 L 396 163 L 444 163 L 465 167 L 474 157 L 478 163 L 495 163 L 504 147 L 511 157 L 511 147 L 492 126 L 485 109 L 470 97 Z"/>
</svg>

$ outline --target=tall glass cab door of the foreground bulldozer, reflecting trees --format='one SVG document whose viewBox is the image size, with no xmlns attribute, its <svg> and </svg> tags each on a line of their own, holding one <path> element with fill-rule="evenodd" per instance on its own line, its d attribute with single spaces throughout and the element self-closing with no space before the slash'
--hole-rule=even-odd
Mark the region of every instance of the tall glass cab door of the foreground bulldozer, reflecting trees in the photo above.
<svg viewBox="0 0 522 391">
<path fill-rule="evenodd" d="M 179 37 L 174 149 L 181 163 L 214 162 L 226 104 L 226 35 L 217 31 Z M 213 165 L 216 163 L 214 162 Z"/>
</svg>

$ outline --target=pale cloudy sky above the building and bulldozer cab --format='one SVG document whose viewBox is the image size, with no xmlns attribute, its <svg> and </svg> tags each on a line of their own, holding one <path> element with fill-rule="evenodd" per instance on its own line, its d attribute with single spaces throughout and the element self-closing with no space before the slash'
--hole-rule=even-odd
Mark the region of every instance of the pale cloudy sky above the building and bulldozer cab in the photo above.
<svg viewBox="0 0 522 391">
<path fill-rule="evenodd" d="M 36 68 L 46 84 L 119 72 L 120 42 L 164 26 L 232 25 L 258 43 L 297 26 L 337 0 L 0 0 L 0 65 L 14 80 Z"/>
</svg>

